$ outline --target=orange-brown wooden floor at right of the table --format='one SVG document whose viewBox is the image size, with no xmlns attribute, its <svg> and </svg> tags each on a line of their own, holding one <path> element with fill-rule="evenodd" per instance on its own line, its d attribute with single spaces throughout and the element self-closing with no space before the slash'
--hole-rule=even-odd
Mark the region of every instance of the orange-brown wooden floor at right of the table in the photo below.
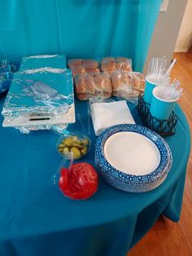
<svg viewBox="0 0 192 256">
<path fill-rule="evenodd" d="M 177 78 L 184 87 L 180 99 L 181 108 L 192 130 L 192 52 L 177 53 L 177 64 L 172 69 L 172 78 Z M 190 135 L 191 138 L 191 135 Z M 179 223 L 160 217 L 151 231 L 139 241 L 128 256 L 192 256 L 192 153 L 187 168 L 185 194 Z"/>
</svg>

